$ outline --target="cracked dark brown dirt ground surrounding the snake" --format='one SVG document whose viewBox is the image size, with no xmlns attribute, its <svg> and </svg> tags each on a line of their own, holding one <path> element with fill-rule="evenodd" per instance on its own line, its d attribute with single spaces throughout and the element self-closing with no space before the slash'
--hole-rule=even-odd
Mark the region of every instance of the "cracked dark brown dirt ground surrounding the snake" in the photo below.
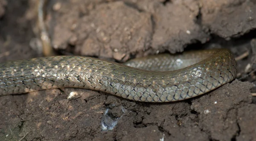
<svg viewBox="0 0 256 141">
<path fill-rule="evenodd" d="M 42 56 L 36 3 L 0 0 L 0 62 Z M 241 81 L 174 103 L 87 89 L 1 96 L 0 141 L 256 141 L 256 76 L 247 76 L 256 67 L 255 0 L 49 0 L 46 7 L 59 54 L 117 62 L 189 49 L 249 55 L 237 61 Z"/>
</svg>

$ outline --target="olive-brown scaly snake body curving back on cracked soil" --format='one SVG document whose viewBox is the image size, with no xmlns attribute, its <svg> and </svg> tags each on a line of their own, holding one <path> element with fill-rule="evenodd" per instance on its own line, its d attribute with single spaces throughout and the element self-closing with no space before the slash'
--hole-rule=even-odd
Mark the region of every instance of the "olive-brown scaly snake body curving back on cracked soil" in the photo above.
<svg viewBox="0 0 256 141">
<path fill-rule="evenodd" d="M 229 49 L 151 55 L 116 63 L 84 56 L 51 56 L 0 63 L 0 96 L 80 88 L 132 101 L 173 102 L 216 89 L 236 77 Z"/>
</svg>

